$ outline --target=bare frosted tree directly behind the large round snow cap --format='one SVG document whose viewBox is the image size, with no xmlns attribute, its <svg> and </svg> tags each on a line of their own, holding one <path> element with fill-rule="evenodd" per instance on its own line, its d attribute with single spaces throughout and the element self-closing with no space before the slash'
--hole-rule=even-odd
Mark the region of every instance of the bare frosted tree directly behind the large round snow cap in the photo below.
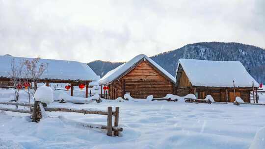
<svg viewBox="0 0 265 149">
<path fill-rule="evenodd" d="M 30 60 L 24 60 L 26 66 L 27 78 L 34 83 L 34 93 L 37 90 L 38 82 L 41 75 L 48 68 L 48 64 L 39 63 L 40 57 Z M 33 95 L 33 94 L 32 94 Z"/>
</svg>

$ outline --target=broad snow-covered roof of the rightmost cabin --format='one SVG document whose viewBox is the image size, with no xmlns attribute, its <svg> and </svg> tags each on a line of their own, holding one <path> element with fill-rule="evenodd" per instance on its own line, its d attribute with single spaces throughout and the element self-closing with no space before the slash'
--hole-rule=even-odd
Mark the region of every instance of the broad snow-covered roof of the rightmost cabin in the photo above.
<svg viewBox="0 0 265 149">
<path fill-rule="evenodd" d="M 236 87 L 252 87 L 252 81 L 259 86 L 239 61 L 179 59 L 180 64 L 192 86 L 234 87 L 233 80 Z"/>
</svg>

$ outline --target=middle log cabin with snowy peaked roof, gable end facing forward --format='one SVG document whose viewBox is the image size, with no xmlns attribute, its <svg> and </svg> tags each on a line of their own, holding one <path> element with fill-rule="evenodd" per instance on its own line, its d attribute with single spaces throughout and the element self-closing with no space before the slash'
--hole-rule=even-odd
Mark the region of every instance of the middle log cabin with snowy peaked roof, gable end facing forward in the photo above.
<svg viewBox="0 0 265 149">
<path fill-rule="evenodd" d="M 136 99 L 146 99 L 149 95 L 162 98 L 174 93 L 175 82 L 174 76 L 144 54 L 135 56 L 99 80 L 101 87 L 108 86 L 107 99 L 123 98 L 126 93 Z"/>
</svg>

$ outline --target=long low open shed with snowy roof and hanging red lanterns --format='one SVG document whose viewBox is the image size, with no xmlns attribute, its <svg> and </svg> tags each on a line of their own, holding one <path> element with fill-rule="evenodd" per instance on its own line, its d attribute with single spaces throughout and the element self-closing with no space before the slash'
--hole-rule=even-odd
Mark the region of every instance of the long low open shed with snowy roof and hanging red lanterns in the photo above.
<svg viewBox="0 0 265 149">
<path fill-rule="evenodd" d="M 10 85 L 9 72 L 11 71 L 11 62 L 14 59 L 16 64 L 24 62 L 24 60 L 31 61 L 33 58 L 14 57 L 11 55 L 0 56 L 0 85 Z M 47 70 L 41 75 L 39 82 L 46 83 L 69 83 L 71 84 L 71 95 L 73 96 L 74 86 L 80 83 L 86 86 L 91 81 L 98 81 L 100 76 L 85 63 L 67 60 L 53 60 L 53 59 L 40 59 L 39 63 L 47 64 Z M 87 97 L 87 92 L 86 92 Z"/>
</svg>

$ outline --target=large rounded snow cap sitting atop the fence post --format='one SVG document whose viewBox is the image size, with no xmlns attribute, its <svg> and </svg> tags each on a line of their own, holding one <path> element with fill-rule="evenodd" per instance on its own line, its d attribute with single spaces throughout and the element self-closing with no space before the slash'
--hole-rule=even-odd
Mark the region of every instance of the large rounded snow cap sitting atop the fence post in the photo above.
<svg viewBox="0 0 265 149">
<path fill-rule="evenodd" d="M 34 94 L 34 98 L 36 99 L 36 101 L 41 101 L 50 104 L 53 102 L 53 90 L 51 87 L 41 86 Z"/>
</svg>

